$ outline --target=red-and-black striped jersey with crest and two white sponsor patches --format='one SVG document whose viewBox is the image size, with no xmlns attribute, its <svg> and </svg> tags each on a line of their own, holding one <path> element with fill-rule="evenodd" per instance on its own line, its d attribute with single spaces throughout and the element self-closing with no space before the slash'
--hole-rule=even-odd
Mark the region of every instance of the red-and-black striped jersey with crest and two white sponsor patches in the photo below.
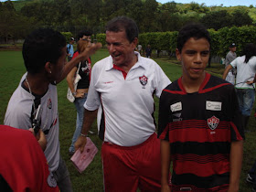
<svg viewBox="0 0 256 192">
<path fill-rule="evenodd" d="M 170 143 L 174 191 L 227 190 L 230 144 L 244 137 L 233 85 L 206 73 L 199 91 L 187 93 L 174 81 L 162 92 L 158 125 Z"/>
</svg>

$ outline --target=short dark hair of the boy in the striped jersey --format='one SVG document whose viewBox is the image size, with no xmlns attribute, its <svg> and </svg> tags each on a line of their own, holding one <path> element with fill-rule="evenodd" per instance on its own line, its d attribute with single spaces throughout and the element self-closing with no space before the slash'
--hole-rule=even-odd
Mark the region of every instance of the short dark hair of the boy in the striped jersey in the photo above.
<svg viewBox="0 0 256 192">
<path fill-rule="evenodd" d="M 206 38 L 208 40 L 209 45 L 211 43 L 209 33 L 206 27 L 198 23 L 188 24 L 185 27 L 182 27 L 178 33 L 177 49 L 179 52 L 182 51 L 184 44 L 191 37 L 194 37 L 196 39 Z"/>
</svg>

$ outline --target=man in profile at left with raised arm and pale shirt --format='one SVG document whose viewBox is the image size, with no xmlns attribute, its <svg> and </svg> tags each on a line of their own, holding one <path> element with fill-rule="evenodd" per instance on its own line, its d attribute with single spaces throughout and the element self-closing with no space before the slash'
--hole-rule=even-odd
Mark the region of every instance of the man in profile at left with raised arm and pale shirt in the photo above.
<svg viewBox="0 0 256 192">
<path fill-rule="evenodd" d="M 27 72 L 13 93 L 5 112 L 5 124 L 22 129 L 32 127 L 41 106 L 39 127 L 46 134 L 48 145 L 44 151 L 50 179 L 61 192 L 72 191 L 69 171 L 59 154 L 59 112 L 57 83 L 66 78 L 80 60 L 88 59 L 101 44 L 86 48 L 76 59 L 67 63 L 66 39 L 58 31 L 37 29 L 23 44 L 22 55 Z"/>
</svg>

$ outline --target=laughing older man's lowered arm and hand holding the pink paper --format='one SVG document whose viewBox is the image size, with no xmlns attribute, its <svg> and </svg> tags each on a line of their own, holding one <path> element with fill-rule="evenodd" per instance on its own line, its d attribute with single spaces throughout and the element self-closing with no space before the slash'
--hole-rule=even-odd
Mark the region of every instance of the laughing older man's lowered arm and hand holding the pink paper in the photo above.
<svg viewBox="0 0 256 192">
<path fill-rule="evenodd" d="M 86 109 L 84 110 L 83 123 L 82 123 L 82 128 L 80 133 L 82 133 L 83 135 L 88 134 L 91 128 L 91 124 L 96 119 L 97 112 L 98 110 L 94 110 L 94 111 L 88 111 Z M 76 151 L 80 148 L 80 153 L 82 153 L 86 142 L 87 142 L 86 136 L 80 135 L 77 142 L 75 143 Z"/>
</svg>

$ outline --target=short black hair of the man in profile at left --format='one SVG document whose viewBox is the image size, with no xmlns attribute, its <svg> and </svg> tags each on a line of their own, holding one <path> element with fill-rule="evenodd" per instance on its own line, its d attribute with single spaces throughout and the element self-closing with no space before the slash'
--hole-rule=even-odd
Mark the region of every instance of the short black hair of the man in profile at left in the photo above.
<svg viewBox="0 0 256 192">
<path fill-rule="evenodd" d="M 47 62 L 56 64 L 66 47 L 66 38 L 50 28 L 39 28 L 29 34 L 23 44 L 22 55 L 27 72 L 35 74 Z"/>
</svg>

